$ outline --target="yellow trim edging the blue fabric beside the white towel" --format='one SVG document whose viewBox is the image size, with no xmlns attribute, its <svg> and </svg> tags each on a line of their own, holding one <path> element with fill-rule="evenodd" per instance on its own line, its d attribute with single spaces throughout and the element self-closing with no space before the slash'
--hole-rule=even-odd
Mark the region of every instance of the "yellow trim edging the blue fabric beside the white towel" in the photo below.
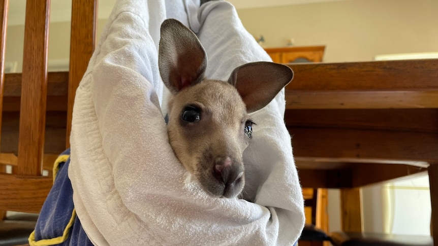
<svg viewBox="0 0 438 246">
<path fill-rule="evenodd" d="M 55 163 L 53 164 L 53 182 L 55 182 L 56 174 L 59 170 L 59 164 L 62 162 L 67 162 L 70 155 L 60 155 L 58 158 L 56 158 Z M 76 209 L 73 208 L 72 211 L 72 217 L 70 218 L 69 223 L 67 224 L 66 228 L 64 229 L 64 232 L 62 232 L 62 236 L 58 236 L 55 238 L 50 239 L 42 239 L 42 240 L 35 240 L 35 230 L 30 233 L 29 238 L 27 239 L 29 241 L 30 246 L 49 246 L 49 245 L 55 245 L 59 244 L 61 242 L 64 242 L 69 237 L 70 228 L 72 227 L 73 223 L 76 219 Z"/>
</svg>

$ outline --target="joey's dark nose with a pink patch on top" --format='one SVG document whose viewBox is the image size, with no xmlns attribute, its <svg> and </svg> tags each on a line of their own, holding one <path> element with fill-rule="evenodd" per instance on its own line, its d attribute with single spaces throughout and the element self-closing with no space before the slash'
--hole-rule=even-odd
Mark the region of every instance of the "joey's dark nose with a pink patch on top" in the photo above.
<svg viewBox="0 0 438 246">
<path fill-rule="evenodd" d="M 228 156 L 226 158 L 218 158 L 214 163 L 213 170 L 214 177 L 218 181 L 224 182 L 226 186 L 234 185 L 243 175 L 241 165 L 233 163 Z"/>
</svg>

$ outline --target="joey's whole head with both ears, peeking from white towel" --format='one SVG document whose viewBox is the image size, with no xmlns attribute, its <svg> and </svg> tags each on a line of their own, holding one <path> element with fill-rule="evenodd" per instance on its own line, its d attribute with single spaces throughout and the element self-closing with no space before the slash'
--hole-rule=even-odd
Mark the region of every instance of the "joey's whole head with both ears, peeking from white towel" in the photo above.
<svg viewBox="0 0 438 246">
<path fill-rule="evenodd" d="M 172 92 L 170 145 L 183 166 L 217 197 L 235 197 L 245 183 L 243 151 L 252 138 L 249 113 L 265 107 L 293 77 L 288 66 L 252 62 L 228 81 L 204 78 L 207 57 L 190 29 L 174 19 L 161 27 L 159 68 Z"/>
</svg>

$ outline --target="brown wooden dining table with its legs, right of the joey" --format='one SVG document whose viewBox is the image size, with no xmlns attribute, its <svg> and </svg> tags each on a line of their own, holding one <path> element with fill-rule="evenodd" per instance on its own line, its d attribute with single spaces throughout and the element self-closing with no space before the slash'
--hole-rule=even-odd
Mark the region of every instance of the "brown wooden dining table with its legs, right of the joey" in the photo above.
<svg viewBox="0 0 438 246">
<path fill-rule="evenodd" d="M 363 230 L 360 187 L 425 172 L 438 223 L 438 59 L 289 66 L 300 182 L 341 190 L 342 230 Z M 431 232 L 438 241 L 438 226 Z"/>
</svg>

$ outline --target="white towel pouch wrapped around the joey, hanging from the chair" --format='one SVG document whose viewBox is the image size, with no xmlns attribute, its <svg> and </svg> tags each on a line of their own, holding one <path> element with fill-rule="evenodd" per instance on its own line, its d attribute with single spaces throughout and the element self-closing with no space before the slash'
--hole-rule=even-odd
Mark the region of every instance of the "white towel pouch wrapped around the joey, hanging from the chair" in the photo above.
<svg viewBox="0 0 438 246">
<path fill-rule="evenodd" d="M 157 52 L 166 18 L 197 32 L 208 78 L 270 60 L 229 3 L 119 0 L 73 112 L 69 178 L 85 232 L 96 245 L 293 244 L 304 212 L 284 91 L 252 115 L 257 125 L 244 163 L 245 190 L 255 203 L 208 195 L 168 143 Z"/>
</svg>

